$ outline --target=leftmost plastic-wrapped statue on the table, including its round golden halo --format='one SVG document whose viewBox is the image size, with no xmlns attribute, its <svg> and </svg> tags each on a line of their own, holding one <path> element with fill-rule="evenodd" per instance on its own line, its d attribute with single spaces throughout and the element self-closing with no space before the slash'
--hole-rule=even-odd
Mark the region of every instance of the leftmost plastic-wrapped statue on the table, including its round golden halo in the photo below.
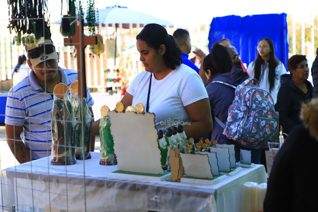
<svg viewBox="0 0 318 212">
<path fill-rule="evenodd" d="M 76 124 L 66 84 L 59 83 L 53 90 L 53 107 L 51 110 L 52 128 L 52 165 L 76 164 L 75 140 Z"/>
</svg>

